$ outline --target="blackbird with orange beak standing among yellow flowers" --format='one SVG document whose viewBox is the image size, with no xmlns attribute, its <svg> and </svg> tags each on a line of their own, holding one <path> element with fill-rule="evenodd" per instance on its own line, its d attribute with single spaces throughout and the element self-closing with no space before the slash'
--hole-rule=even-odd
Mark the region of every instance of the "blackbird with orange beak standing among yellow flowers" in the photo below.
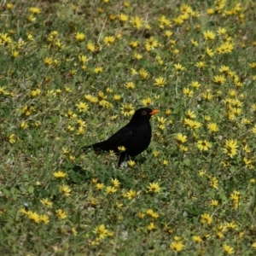
<svg viewBox="0 0 256 256">
<path fill-rule="evenodd" d="M 118 166 L 120 166 L 126 156 L 134 157 L 148 148 L 152 137 L 149 119 L 154 113 L 159 112 L 151 108 L 139 108 L 133 114 L 131 121 L 106 141 L 85 146 L 83 150 L 87 151 L 90 148 L 96 152 L 113 150 L 114 153 L 119 154 Z M 124 146 L 125 151 L 120 152 L 120 146 Z"/>
</svg>

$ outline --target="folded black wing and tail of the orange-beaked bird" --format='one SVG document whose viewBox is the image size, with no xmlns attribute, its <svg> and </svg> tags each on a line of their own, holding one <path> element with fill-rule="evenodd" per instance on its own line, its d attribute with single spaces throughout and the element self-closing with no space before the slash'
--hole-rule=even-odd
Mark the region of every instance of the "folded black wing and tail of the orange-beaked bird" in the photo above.
<svg viewBox="0 0 256 256">
<path fill-rule="evenodd" d="M 129 142 L 131 142 L 131 138 L 133 135 L 133 131 L 129 127 L 123 127 L 116 133 L 114 133 L 111 137 L 109 137 L 106 141 L 101 143 L 95 143 L 90 146 L 84 147 L 83 150 L 87 150 L 89 148 L 93 148 L 96 151 L 99 150 L 113 150 L 115 152 L 118 151 L 119 146 L 125 146 Z"/>
</svg>

